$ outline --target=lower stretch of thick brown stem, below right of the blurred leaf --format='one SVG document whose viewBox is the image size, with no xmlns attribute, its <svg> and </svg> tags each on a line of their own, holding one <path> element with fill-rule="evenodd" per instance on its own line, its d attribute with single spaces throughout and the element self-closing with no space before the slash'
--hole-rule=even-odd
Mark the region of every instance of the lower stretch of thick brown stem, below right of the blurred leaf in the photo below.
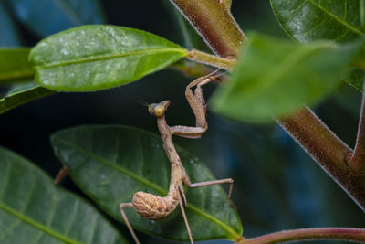
<svg viewBox="0 0 365 244">
<path fill-rule="evenodd" d="M 365 177 L 350 171 L 348 162 L 352 150 L 349 146 L 308 108 L 277 122 L 365 211 Z"/>
</svg>

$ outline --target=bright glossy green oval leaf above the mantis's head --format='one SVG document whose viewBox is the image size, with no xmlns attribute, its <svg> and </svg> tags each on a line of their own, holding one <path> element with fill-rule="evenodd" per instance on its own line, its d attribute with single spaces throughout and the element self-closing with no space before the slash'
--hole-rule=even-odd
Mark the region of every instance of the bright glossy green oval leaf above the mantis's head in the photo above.
<svg viewBox="0 0 365 244">
<path fill-rule="evenodd" d="M 88 91 L 138 80 L 186 55 L 186 49 L 141 30 L 84 26 L 44 39 L 30 59 L 41 86 Z"/>
</svg>

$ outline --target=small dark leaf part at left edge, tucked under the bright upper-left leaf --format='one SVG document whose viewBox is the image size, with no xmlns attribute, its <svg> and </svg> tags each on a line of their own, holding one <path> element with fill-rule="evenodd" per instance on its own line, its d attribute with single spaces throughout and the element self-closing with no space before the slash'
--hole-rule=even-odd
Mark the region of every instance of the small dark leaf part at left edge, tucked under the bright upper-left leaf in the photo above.
<svg viewBox="0 0 365 244">
<path fill-rule="evenodd" d="M 4 95 L 0 95 L 0 114 L 26 102 L 54 94 L 54 90 L 40 87 L 34 81 L 16 84 Z"/>
</svg>

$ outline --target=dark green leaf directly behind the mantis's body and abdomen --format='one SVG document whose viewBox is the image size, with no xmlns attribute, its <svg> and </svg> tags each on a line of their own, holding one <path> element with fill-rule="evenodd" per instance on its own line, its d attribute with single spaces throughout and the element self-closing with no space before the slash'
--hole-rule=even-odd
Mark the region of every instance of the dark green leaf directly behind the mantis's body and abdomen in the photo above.
<svg viewBox="0 0 365 244">
<path fill-rule="evenodd" d="M 137 191 L 166 196 L 170 162 L 162 140 L 127 126 L 80 126 L 52 135 L 61 162 L 75 183 L 102 209 L 122 221 L 120 203 L 131 202 Z M 192 182 L 212 180 L 209 170 L 192 155 L 177 148 Z M 193 239 L 237 239 L 242 226 L 221 186 L 186 191 L 187 217 Z M 188 240 L 180 208 L 159 221 L 126 209 L 133 228 L 162 238 Z"/>
</svg>

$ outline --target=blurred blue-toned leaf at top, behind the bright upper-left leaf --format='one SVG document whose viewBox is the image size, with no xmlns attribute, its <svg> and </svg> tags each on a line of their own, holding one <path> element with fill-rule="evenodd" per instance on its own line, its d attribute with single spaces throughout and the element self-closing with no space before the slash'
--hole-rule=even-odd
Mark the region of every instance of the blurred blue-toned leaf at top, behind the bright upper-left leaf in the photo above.
<svg viewBox="0 0 365 244">
<path fill-rule="evenodd" d="M 12 0 L 16 17 L 39 37 L 88 24 L 103 24 L 98 0 Z"/>
</svg>

